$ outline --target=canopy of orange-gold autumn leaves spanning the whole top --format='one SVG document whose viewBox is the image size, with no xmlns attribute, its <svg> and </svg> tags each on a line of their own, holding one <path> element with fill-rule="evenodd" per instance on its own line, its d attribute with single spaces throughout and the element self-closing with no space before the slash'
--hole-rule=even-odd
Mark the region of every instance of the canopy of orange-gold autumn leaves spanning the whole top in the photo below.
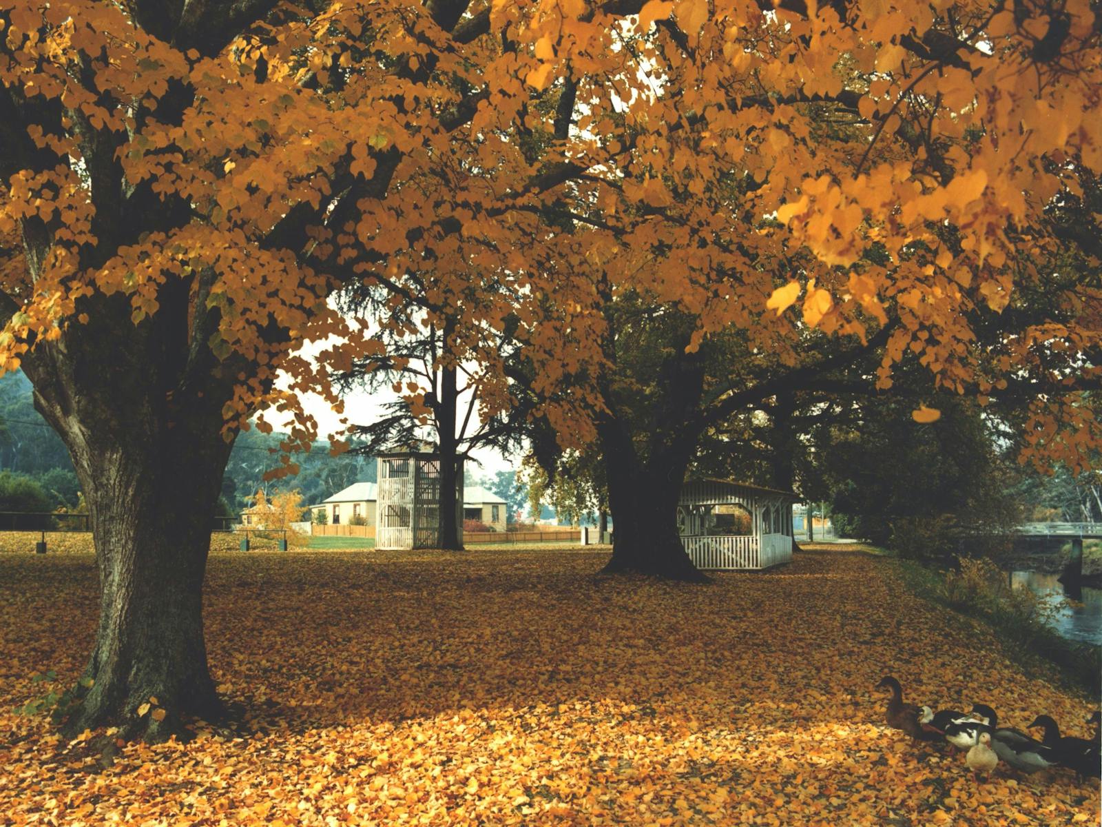
<svg viewBox="0 0 1102 827">
<path fill-rule="evenodd" d="M 298 395 L 339 400 L 327 369 L 292 354 L 331 341 L 345 343 L 323 352 L 338 368 L 378 357 L 370 323 L 328 301 L 363 284 L 387 297 L 380 324 L 409 324 L 392 312 L 409 307 L 428 323 L 458 313 L 471 341 L 447 357 L 485 358 L 491 409 L 509 390 L 489 332 L 515 331 L 548 418 L 584 439 L 555 390 L 596 373 L 603 302 L 637 292 L 693 314 L 694 345 L 735 329 L 782 365 L 814 331 L 864 339 L 890 319 L 882 387 L 908 352 L 957 393 L 990 396 L 1020 372 L 1052 391 L 1027 453 L 1081 466 L 1102 441 L 1060 393 L 1100 378 L 1078 354 L 1099 347 L 1102 291 L 1052 290 L 1047 264 L 1069 245 L 1048 211 L 1102 170 L 1088 0 L 495 1 L 454 31 L 435 6 L 279 7 L 203 54 L 123 6 L 0 0 L 0 83 L 31 101 L 0 247 L 33 247 L 0 260 L 22 305 L 0 366 L 96 324 L 94 297 L 126 296 L 138 322 L 165 284 L 194 283 L 192 314 L 216 314 L 205 344 L 250 366 L 226 418 L 273 405 L 309 441 Z M 109 194 L 147 186 L 184 217 L 115 226 Z M 110 247 L 97 223 L 128 240 Z M 802 313 L 785 316 L 800 284 Z M 975 346 L 972 320 L 1038 293 L 1044 319 Z M 279 370 L 293 393 L 270 389 Z"/>
</svg>

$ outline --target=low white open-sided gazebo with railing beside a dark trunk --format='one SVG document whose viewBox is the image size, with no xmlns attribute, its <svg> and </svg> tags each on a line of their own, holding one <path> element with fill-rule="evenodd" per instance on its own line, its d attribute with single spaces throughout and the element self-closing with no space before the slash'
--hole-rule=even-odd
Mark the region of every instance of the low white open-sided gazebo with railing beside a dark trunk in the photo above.
<svg viewBox="0 0 1102 827">
<path fill-rule="evenodd" d="M 681 488 L 678 528 L 685 552 L 699 569 L 768 569 L 792 559 L 792 503 L 785 491 L 728 480 L 692 480 Z M 741 506 L 748 534 L 722 534 L 720 506 Z"/>
</svg>

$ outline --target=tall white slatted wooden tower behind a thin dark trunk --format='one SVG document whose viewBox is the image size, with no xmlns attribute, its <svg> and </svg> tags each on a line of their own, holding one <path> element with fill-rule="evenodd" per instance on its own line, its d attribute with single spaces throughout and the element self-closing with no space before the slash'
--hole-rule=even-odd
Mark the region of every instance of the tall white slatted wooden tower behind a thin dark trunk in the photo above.
<svg viewBox="0 0 1102 827">
<path fill-rule="evenodd" d="M 425 451 L 379 454 L 378 497 L 376 548 L 440 548 L 439 454 Z M 462 462 L 455 475 L 455 523 L 462 543 Z"/>
</svg>

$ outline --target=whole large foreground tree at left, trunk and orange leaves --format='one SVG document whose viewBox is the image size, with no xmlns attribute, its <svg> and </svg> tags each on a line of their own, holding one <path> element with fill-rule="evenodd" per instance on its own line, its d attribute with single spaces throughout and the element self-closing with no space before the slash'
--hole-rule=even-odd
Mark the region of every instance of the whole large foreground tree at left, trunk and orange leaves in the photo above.
<svg viewBox="0 0 1102 827">
<path fill-rule="evenodd" d="M 295 415 L 307 388 L 339 405 L 328 368 L 294 355 L 356 341 L 334 291 L 430 241 L 446 257 L 461 226 L 493 249 L 493 187 L 523 205 L 557 185 L 527 190 L 534 170 L 501 131 L 521 100 L 479 108 L 515 97 L 523 66 L 465 9 L 0 4 L 2 364 L 73 457 L 100 574 L 71 729 L 160 738 L 218 713 L 202 583 L 235 433 L 263 408 Z M 493 175 L 424 198 L 419 170 L 445 150 Z M 296 421 L 287 448 L 313 436 Z M 150 696 L 166 716 L 134 715 Z"/>
</svg>

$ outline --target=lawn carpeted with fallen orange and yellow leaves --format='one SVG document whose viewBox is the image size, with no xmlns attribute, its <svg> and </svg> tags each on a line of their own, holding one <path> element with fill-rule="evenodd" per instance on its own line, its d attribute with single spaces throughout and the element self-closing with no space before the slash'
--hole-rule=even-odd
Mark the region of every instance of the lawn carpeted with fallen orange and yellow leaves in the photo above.
<svg viewBox="0 0 1102 827">
<path fill-rule="evenodd" d="M 1098 824 L 1096 780 L 976 785 L 884 727 L 886 673 L 1012 726 L 1081 733 L 1092 709 L 890 561 L 822 550 L 700 587 L 595 577 L 605 556 L 215 554 L 210 663 L 248 726 L 100 770 L 11 712 L 32 673 L 75 678 L 94 561 L 0 555 L 0 823 Z"/>
</svg>

